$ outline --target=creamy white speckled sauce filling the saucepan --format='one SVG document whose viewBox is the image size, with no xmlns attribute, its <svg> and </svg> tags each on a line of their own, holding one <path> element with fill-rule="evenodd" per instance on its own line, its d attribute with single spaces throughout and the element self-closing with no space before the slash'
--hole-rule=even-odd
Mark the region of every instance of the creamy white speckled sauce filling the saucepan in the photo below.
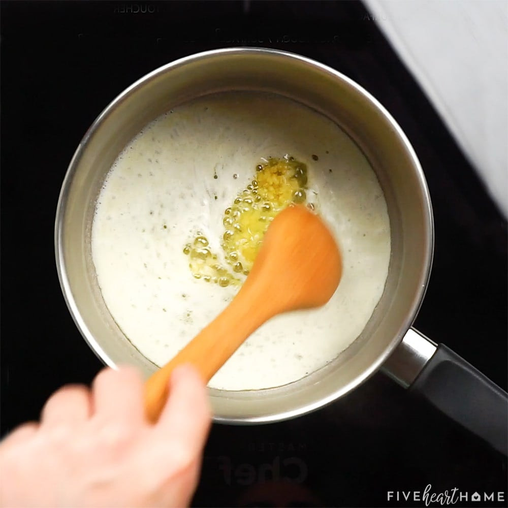
<svg viewBox="0 0 508 508">
<path fill-rule="evenodd" d="M 309 201 L 319 204 L 336 235 L 342 280 L 324 307 L 263 325 L 209 386 L 253 390 L 294 382 L 362 332 L 390 259 L 387 206 L 365 156 L 332 121 L 293 101 L 217 94 L 147 125 L 117 158 L 97 202 L 91 247 L 104 301 L 155 364 L 170 360 L 238 290 L 194 279 L 183 246 L 201 231 L 220 252 L 224 209 L 261 157 L 284 154 L 308 165 Z"/>
</svg>

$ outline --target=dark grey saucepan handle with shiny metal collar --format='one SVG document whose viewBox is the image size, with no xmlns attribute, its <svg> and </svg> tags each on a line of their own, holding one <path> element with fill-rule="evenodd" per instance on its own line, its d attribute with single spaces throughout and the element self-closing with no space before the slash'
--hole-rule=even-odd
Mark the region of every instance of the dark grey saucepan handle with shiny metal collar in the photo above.
<svg viewBox="0 0 508 508">
<path fill-rule="evenodd" d="M 406 340 L 407 339 L 407 340 Z M 398 383 L 504 455 L 508 453 L 508 396 L 443 344 L 410 329 L 385 363 Z"/>
</svg>

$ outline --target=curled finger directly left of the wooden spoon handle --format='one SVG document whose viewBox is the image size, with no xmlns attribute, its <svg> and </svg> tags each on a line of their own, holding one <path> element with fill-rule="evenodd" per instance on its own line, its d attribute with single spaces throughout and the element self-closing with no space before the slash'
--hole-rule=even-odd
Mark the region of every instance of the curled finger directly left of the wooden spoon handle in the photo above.
<svg viewBox="0 0 508 508">
<path fill-rule="evenodd" d="M 131 366 L 118 370 L 102 370 L 93 381 L 92 401 L 94 416 L 106 420 L 128 421 L 140 424 L 144 421 L 143 383 L 141 374 Z"/>
</svg>

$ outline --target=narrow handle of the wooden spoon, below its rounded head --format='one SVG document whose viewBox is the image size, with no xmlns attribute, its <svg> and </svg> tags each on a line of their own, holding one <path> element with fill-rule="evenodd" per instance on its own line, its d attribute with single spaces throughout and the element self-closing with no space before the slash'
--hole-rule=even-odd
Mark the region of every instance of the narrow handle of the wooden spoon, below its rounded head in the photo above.
<svg viewBox="0 0 508 508">
<path fill-rule="evenodd" d="M 255 298 L 247 298 L 244 288 L 214 321 L 147 380 L 145 413 L 149 421 L 157 421 L 166 403 L 169 379 L 175 367 L 184 363 L 193 364 L 203 381 L 208 383 L 242 342 L 269 319 L 266 306 L 257 305 Z"/>
</svg>

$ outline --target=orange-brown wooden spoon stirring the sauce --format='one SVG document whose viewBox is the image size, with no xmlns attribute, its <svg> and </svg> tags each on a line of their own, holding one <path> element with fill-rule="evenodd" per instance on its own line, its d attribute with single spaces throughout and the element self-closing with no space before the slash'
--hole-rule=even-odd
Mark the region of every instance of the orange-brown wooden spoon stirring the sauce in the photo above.
<svg viewBox="0 0 508 508">
<path fill-rule="evenodd" d="M 284 209 L 270 224 L 252 270 L 229 306 L 147 380 L 147 418 L 157 420 L 176 366 L 192 363 L 208 383 L 271 317 L 328 302 L 341 274 L 340 252 L 323 220 L 301 205 Z"/>
</svg>

